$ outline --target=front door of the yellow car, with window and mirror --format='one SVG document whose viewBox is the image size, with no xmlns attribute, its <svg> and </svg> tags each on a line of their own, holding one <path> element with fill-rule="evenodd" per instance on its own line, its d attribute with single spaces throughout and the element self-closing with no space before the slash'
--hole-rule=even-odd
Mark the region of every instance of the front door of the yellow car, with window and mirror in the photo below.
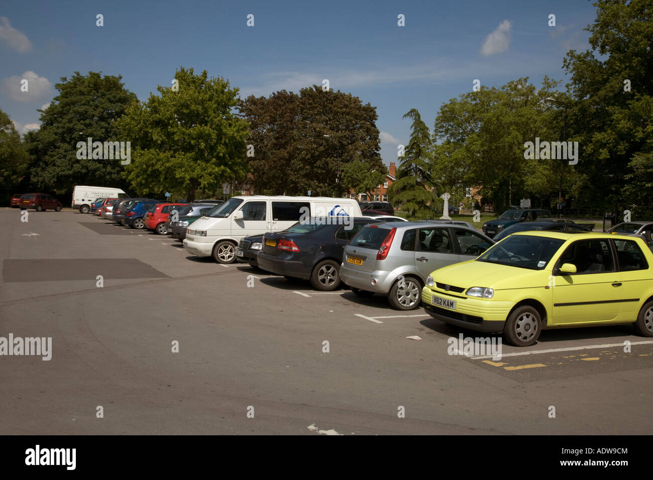
<svg viewBox="0 0 653 480">
<path fill-rule="evenodd" d="M 564 263 L 575 265 L 576 273 L 556 272 Z M 582 238 L 567 246 L 555 264 L 551 286 L 556 324 L 616 319 L 626 291 L 607 238 Z"/>
</svg>

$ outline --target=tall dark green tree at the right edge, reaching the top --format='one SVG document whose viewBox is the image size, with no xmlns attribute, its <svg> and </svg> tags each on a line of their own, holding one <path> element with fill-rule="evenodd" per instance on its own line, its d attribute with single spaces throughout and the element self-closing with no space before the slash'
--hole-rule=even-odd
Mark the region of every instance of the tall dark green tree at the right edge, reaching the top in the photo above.
<svg viewBox="0 0 653 480">
<path fill-rule="evenodd" d="M 652 214 L 653 2 L 593 5 L 596 19 L 586 28 L 591 50 L 571 50 L 564 60 L 585 159 L 579 170 L 592 185 L 584 197 L 604 208 L 635 204 Z"/>
</svg>

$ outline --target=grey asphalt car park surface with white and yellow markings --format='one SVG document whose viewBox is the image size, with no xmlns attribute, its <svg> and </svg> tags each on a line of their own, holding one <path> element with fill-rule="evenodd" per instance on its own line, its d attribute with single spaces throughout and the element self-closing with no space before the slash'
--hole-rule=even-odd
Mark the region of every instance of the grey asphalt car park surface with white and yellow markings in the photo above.
<svg viewBox="0 0 653 480">
<path fill-rule="evenodd" d="M 630 326 L 450 355 L 449 338 L 479 334 L 383 296 L 319 293 L 70 209 L 0 220 L 0 336 L 52 338 L 51 360 L 0 357 L 0 434 L 653 430 L 653 341 Z"/>
</svg>

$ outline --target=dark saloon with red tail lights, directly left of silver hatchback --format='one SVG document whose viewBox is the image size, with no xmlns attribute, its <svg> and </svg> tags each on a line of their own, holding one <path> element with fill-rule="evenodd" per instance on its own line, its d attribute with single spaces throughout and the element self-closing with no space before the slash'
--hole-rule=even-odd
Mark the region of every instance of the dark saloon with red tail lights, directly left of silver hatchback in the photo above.
<svg viewBox="0 0 653 480">
<path fill-rule="evenodd" d="M 338 225 L 338 221 L 342 218 L 311 217 L 287 231 L 264 234 L 263 249 L 257 256 L 259 266 L 285 278 L 310 280 L 321 291 L 335 290 L 340 285 L 345 246 L 362 227 L 377 223 L 366 217 L 351 218 L 349 225 Z"/>
</svg>

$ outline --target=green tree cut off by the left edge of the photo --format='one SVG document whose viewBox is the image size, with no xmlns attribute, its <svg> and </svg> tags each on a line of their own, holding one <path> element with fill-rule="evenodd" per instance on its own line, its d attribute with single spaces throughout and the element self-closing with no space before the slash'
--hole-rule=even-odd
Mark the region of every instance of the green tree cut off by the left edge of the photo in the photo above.
<svg viewBox="0 0 653 480">
<path fill-rule="evenodd" d="M 29 157 L 20 133 L 9 116 L 0 110 L 0 189 L 9 191 L 25 175 Z"/>
</svg>

